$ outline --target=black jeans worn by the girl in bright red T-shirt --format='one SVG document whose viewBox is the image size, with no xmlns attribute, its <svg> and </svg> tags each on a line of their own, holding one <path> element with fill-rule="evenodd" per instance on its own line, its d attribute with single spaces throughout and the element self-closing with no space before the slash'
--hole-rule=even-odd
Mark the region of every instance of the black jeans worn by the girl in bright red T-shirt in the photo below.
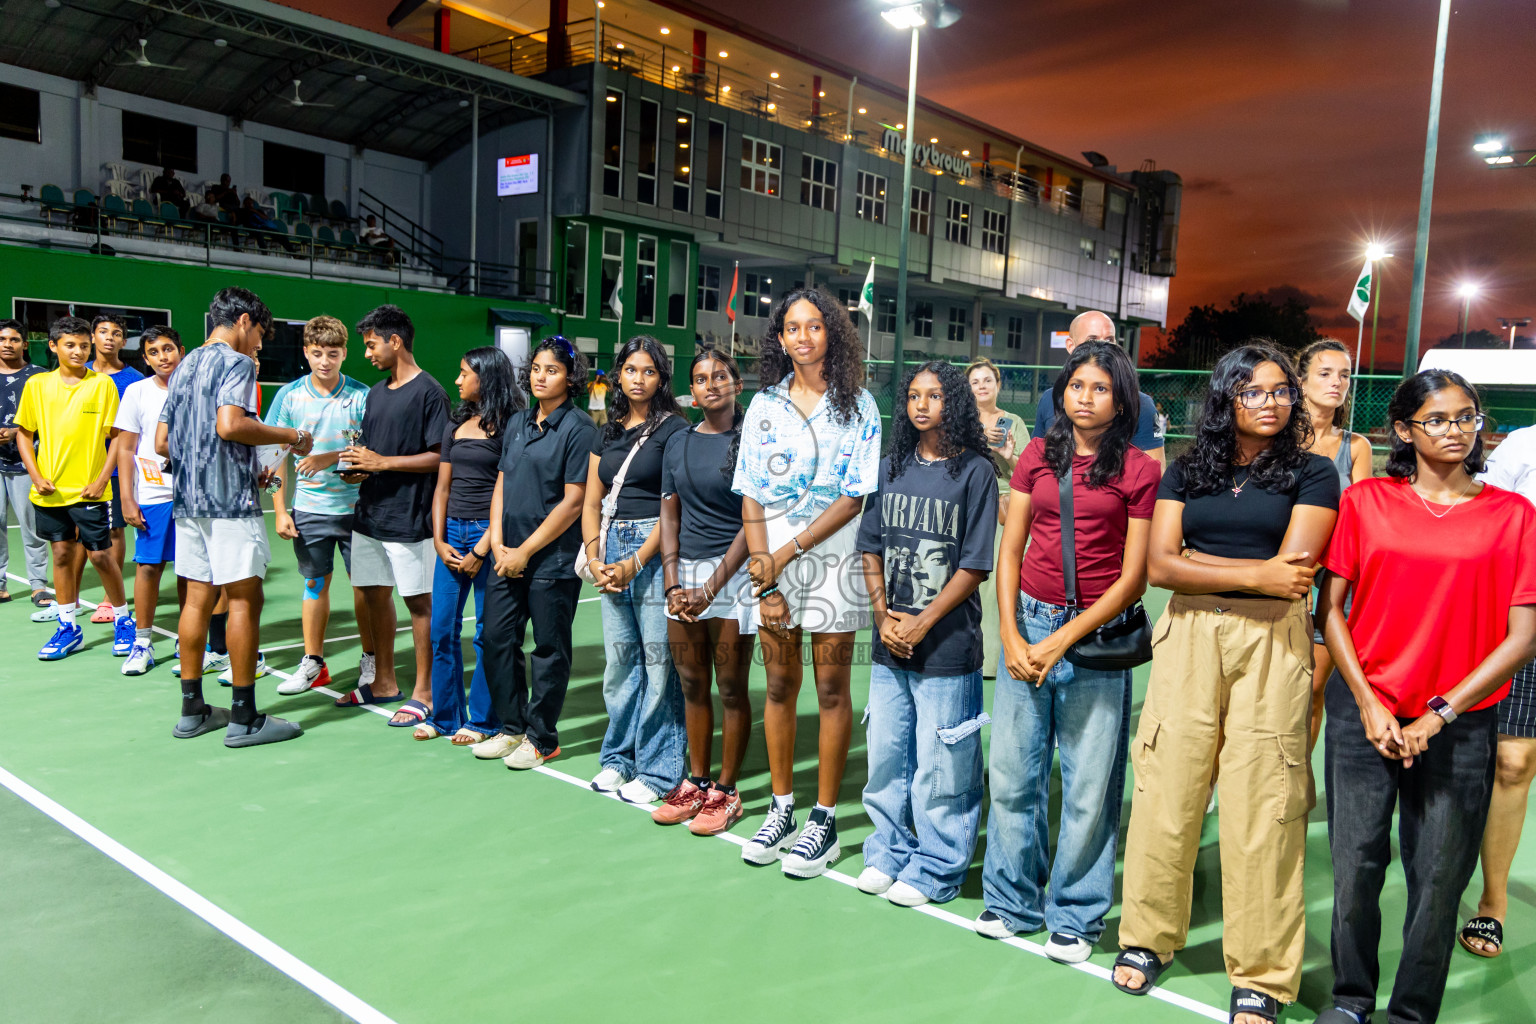
<svg viewBox="0 0 1536 1024">
<path fill-rule="evenodd" d="M 1381 887 L 1392 861 L 1392 811 L 1409 883 L 1402 963 L 1390 1024 L 1439 1016 L 1456 946 L 1461 894 L 1478 866 L 1498 749 L 1498 709 L 1470 711 L 1430 740 L 1413 768 L 1382 757 L 1359 706 L 1333 672 L 1327 694 L 1326 777 L 1333 855 L 1333 1003 L 1370 1016 L 1381 966 Z M 1407 720 L 1404 720 L 1407 725 Z"/>
</svg>

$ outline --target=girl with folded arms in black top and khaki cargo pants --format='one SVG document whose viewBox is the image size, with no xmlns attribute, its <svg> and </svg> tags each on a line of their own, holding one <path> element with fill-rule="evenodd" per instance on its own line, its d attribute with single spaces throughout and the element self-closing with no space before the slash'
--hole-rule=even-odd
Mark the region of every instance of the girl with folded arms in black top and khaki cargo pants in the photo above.
<svg viewBox="0 0 1536 1024">
<path fill-rule="evenodd" d="M 1221 769 L 1223 949 L 1232 1024 L 1275 1021 L 1301 986 L 1312 623 L 1338 474 L 1307 451 L 1290 358 L 1253 342 L 1210 373 L 1193 447 L 1158 487 L 1147 580 L 1174 591 L 1130 746 L 1121 953 L 1144 995 L 1189 935 L 1206 798 Z"/>
</svg>

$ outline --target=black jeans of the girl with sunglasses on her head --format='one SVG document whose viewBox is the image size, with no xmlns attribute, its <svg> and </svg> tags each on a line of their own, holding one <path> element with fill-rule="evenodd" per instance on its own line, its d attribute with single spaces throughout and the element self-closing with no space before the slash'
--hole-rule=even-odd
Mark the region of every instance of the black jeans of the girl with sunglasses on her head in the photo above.
<svg viewBox="0 0 1536 1024">
<path fill-rule="evenodd" d="M 561 745 L 556 723 L 571 679 L 571 620 L 581 580 L 541 580 L 492 574 L 485 588 L 485 683 L 492 709 L 507 735 L 527 735 L 539 754 Z M 533 683 L 522 637 L 533 622 Z"/>
</svg>

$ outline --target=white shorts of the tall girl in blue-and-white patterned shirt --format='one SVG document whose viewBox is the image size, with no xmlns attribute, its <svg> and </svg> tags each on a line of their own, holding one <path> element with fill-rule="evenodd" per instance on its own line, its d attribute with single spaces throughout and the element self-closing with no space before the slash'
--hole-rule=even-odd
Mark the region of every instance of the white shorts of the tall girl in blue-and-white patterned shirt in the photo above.
<svg viewBox="0 0 1536 1024">
<path fill-rule="evenodd" d="M 820 511 L 806 519 L 791 519 L 773 507 L 768 510 L 768 548 L 777 551 L 805 531 Z M 806 554 L 785 567 L 779 576 L 779 593 L 790 605 L 790 620 L 806 633 L 852 633 L 869 628 L 869 591 L 863 582 L 863 556 L 859 554 L 859 519 L 834 533 L 817 537 Z M 753 606 L 753 625 L 762 625 Z"/>
</svg>

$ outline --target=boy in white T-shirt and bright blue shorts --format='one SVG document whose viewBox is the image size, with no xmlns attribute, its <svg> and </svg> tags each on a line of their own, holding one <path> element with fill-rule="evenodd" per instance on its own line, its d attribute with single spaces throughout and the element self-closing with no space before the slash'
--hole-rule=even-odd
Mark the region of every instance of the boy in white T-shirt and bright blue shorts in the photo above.
<svg viewBox="0 0 1536 1024">
<path fill-rule="evenodd" d="M 143 676 L 155 666 L 155 605 L 166 562 L 175 560 L 177 531 L 170 520 L 170 473 L 155 451 L 155 430 L 166 404 L 166 382 L 186 350 L 169 327 L 151 327 L 140 338 L 140 352 L 155 376 L 129 384 L 117 407 L 114 425 L 121 433 L 117 479 L 123 494 L 123 519 L 137 530 L 134 540 L 134 648 L 123 662 L 124 676 Z M 177 580 L 186 597 L 186 580 Z"/>
</svg>

